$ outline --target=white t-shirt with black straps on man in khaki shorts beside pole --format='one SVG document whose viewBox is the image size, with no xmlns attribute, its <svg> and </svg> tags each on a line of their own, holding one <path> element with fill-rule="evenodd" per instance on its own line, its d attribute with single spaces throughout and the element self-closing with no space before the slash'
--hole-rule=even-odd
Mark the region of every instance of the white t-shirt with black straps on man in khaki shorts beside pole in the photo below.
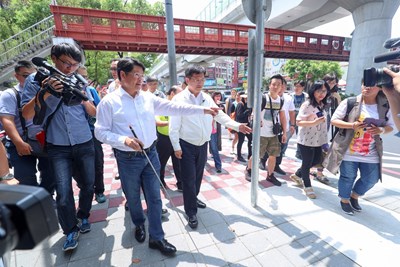
<svg viewBox="0 0 400 267">
<path fill-rule="evenodd" d="M 272 127 L 274 126 L 272 118 L 276 121 L 277 118 L 279 117 L 279 110 L 281 108 L 281 98 L 279 96 L 276 99 L 271 98 L 272 114 L 273 114 L 272 117 L 270 110 L 270 103 L 269 103 L 270 96 L 269 94 L 266 94 L 265 96 L 267 101 L 265 103 L 265 107 L 263 107 L 263 110 L 261 111 L 260 136 L 273 137 L 275 136 L 275 134 L 272 132 Z"/>
</svg>

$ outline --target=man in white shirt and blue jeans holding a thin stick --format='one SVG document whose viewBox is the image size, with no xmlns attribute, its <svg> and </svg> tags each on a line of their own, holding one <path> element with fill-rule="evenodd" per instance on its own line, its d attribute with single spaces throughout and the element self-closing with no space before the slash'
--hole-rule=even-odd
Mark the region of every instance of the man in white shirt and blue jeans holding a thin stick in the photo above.
<svg viewBox="0 0 400 267">
<path fill-rule="evenodd" d="M 136 225 L 136 240 L 143 243 L 146 239 L 145 216 L 140 198 L 142 186 L 147 199 L 149 247 L 158 249 L 163 254 L 173 255 L 176 248 L 164 239 L 161 226 L 162 203 L 160 181 L 157 179 L 160 161 L 156 151 L 155 114 L 195 115 L 210 117 L 211 120 L 212 116 L 202 114 L 215 115 L 216 109 L 173 103 L 150 92 L 141 91 L 144 70 L 144 65 L 133 58 L 124 58 L 118 62 L 121 88 L 106 95 L 98 105 L 95 136 L 114 148 L 122 188 L 132 222 Z"/>
</svg>

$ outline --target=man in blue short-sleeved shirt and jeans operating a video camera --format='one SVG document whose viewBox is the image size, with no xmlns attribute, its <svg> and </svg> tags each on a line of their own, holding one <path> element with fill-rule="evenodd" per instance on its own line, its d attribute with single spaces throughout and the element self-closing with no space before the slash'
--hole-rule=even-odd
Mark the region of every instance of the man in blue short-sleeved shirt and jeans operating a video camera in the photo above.
<svg viewBox="0 0 400 267">
<path fill-rule="evenodd" d="M 41 65 L 46 65 L 47 69 L 52 68 L 53 73 L 43 80 L 41 87 L 38 83 L 27 83 L 22 103 L 26 103 L 23 108 L 26 119 L 35 115 L 35 109 L 36 113 L 41 114 L 40 111 L 46 108 L 46 116 L 49 113 L 54 115 L 51 123 L 46 126 L 46 148 L 54 170 L 58 220 L 66 235 L 63 250 L 67 251 L 78 246 L 79 233 L 90 231 L 88 219 L 94 193 L 95 152 L 87 115 L 94 116 L 96 110 L 91 101 L 71 105 L 64 97 L 67 89 L 77 90 L 73 87 L 75 84 L 70 86 L 72 88 L 65 87 L 65 80 L 74 78 L 73 73 L 82 60 L 80 50 L 72 44 L 60 43 L 52 47 L 51 59 L 55 68 L 49 67 L 47 63 Z M 40 95 L 43 99 L 38 99 Z M 80 172 L 79 179 L 76 179 L 80 187 L 77 210 L 72 189 L 74 166 Z"/>
</svg>

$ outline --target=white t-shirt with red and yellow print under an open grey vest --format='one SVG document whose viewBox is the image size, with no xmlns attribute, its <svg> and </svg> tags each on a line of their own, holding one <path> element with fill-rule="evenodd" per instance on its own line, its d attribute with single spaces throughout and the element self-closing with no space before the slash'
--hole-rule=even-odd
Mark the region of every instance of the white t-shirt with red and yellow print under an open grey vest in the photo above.
<svg viewBox="0 0 400 267">
<path fill-rule="evenodd" d="M 335 113 L 332 116 L 332 120 L 340 119 L 346 116 L 347 101 L 340 103 Z M 393 118 L 390 111 L 387 113 L 388 121 L 386 125 L 391 127 L 394 126 Z M 366 105 L 361 104 L 361 113 L 359 121 L 364 121 L 365 118 L 379 119 L 378 105 Z M 374 137 L 366 131 L 366 129 L 359 129 L 354 132 L 353 140 L 351 140 L 350 146 L 343 157 L 343 160 L 353 162 L 365 162 L 365 163 L 379 163 L 379 155 L 376 150 Z"/>
</svg>

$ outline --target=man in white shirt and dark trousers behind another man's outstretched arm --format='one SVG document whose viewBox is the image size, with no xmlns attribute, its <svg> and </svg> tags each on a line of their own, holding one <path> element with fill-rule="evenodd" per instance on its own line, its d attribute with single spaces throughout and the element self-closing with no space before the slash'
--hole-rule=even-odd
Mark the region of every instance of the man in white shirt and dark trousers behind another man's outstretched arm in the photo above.
<svg viewBox="0 0 400 267">
<path fill-rule="evenodd" d="M 217 107 L 211 96 L 202 92 L 206 70 L 202 66 L 190 66 L 185 71 L 187 88 L 176 95 L 172 102 L 194 104 L 203 107 Z M 245 134 L 251 128 L 232 120 L 221 110 L 214 117 L 221 125 Z M 189 226 L 197 228 L 197 208 L 206 204 L 197 198 L 207 161 L 207 143 L 212 130 L 211 116 L 172 116 L 169 138 L 174 147 L 175 156 L 181 159 L 183 204 L 188 216 Z"/>
</svg>

